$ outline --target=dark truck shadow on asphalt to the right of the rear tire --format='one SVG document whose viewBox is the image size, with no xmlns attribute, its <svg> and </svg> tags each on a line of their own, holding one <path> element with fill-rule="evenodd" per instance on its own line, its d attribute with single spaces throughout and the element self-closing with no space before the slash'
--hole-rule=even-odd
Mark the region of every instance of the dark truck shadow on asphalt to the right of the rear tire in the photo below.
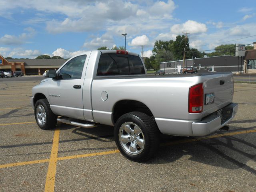
<svg viewBox="0 0 256 192">
<path fill-rule="evenodd" d="M 235 131 L 252 130 L 254 128 L 256 127 L 246 129 L 238 128 L 235 129 Z M 225 132 L 226 131 L 220 131 L 217 133 L 224 134 Z M 193 137 L 191 137 L 191 139 L 193 139 Z M 164 136 L 162 144 L 169 142 L 170 145 L 164 144 L 164 146 L 160 146 L 158 154 L 146 163 L 166 164 L 184 158 L 199 164 L 207 164 L 231 170 L 242 168 L 256 175 L 256 145 L 254 135 L 248 136 L 248 134 L 241 134 L 184 142 L 175 145 L 171 144 L 173 141 L 179 142 L 182 140 L 188 140 L 188 138 Z M 252 166 L 248 165 L 249 161 L 253 162 Z"/>
</svg>

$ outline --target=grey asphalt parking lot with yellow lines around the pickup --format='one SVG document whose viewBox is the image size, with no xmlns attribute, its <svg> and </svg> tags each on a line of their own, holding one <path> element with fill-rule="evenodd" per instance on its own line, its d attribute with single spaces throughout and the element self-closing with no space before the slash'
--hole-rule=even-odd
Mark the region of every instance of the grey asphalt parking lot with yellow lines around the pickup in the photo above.
<svg viewBox="0 0 256 192">
<path fill-rule="evenodd" d="M 229 131 L 163 136 L 156 157 L 136 163 L 110 126 L 41 130 L 30 106 L 38 83 L 0 80 L 0 191 L 256 191 L 256 84 L 235 84 Z"/>
</svg>

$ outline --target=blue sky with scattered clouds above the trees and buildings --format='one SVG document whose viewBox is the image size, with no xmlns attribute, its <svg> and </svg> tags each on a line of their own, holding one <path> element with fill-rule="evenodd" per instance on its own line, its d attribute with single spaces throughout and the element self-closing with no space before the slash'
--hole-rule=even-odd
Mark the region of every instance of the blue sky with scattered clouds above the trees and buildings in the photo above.
<svg viewBox="0 0 256 192">
<path fill-rule="evenodd" d="M 255 0 L 0 0 L 0 8 L 4 57 L 69 58 L 124 46 L 123 33 L 126 49 L 139 54 L 144 45 L 144 56 L 156 40 L 175 40 L 182 32 L 198 50 L 256 42 Z"/>
</svg>

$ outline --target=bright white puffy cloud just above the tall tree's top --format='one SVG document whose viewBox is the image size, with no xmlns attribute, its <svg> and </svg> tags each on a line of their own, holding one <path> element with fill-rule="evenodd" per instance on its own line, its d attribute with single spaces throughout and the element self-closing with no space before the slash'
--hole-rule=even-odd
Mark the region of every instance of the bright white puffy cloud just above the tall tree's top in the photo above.
<svg viewBox="0 0 256 192">
<path fill-rule="evenodd" d="M 203 23 L 188 20 L 184 24 L 176 24 L 172 26 L 171 31 L 175 34 L 181 34 L 182 32 L 188 32 L 190 34 L 204 33 L 207 31 L 207 27 Z"/>
</svg>

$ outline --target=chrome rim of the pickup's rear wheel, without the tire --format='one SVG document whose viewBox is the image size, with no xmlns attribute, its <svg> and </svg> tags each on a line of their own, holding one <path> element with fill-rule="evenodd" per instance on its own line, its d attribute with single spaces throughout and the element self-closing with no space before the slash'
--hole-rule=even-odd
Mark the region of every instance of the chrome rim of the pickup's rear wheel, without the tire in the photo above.
<svg viewBox="0 0 256 192">
<path fill-rule="evenodd" d="M 142 130 L 132 122 L 126 122 L 120 126 L 119 140 L 122 148 L 132 155 L 140 154 L 145 146 Z"/>
</svg>

